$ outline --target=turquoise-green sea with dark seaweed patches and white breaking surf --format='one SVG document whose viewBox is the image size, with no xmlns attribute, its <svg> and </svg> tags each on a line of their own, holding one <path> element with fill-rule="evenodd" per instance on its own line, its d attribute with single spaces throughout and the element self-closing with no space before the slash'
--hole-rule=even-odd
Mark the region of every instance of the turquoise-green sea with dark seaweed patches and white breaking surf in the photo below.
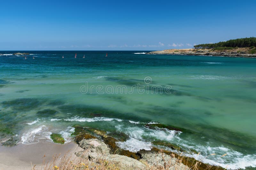
<svg viewBox="0 0 256 170">
<path fill-rule="evenodd" d="M 71 126 L 81 124 L 126 133 L 118 145 L 133 152 L 164 141 L 198 160 L 216 153 L 206 163 L 256 167 L 254 58 L 30 51 L 25 60 L 0 53 L 0 130 L 20 143 L 52 142 L 53 132 L 70 142 Z M 145 126 L 156 122 L 185 130 Z"/>
</svg>

